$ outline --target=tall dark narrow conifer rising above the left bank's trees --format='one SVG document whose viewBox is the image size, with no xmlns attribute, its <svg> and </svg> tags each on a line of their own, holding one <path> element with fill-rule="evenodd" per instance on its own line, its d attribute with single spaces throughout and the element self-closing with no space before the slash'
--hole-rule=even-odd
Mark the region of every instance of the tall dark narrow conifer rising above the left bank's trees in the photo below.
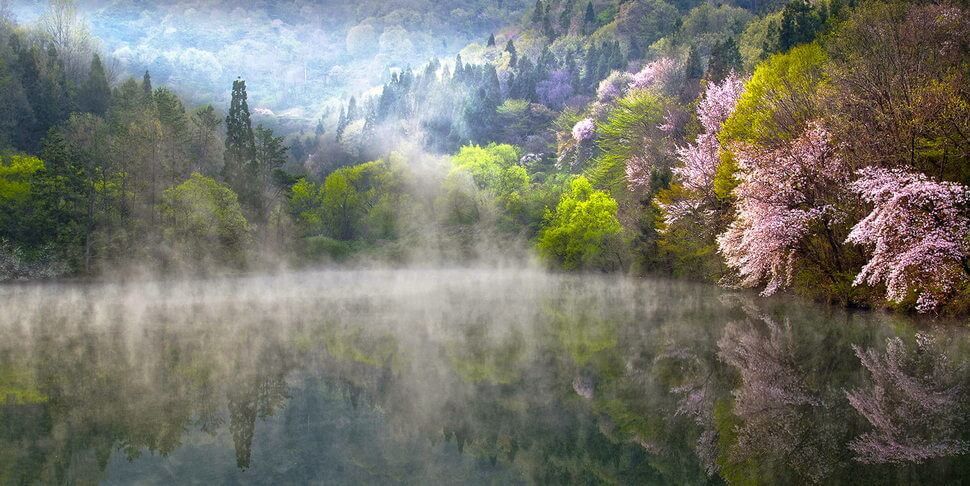
<svg viewBox="0 0 970 486">
<path fill-rule="evenodd" d="M 246 82 L 232 82 L 232 101 L 226 115 L 226 153 L 222 177 L 239 200 L 249 208 L 255 208 L 258 197 L 256 183 L 256 140 L 246 101 Z"/>
</svg>

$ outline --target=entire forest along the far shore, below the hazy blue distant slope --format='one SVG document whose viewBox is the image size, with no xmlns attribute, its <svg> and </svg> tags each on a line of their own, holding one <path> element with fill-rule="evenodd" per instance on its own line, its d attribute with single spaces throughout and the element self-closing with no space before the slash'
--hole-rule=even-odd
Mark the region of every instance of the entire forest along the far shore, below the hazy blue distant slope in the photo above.
<svg viewBox="0 0 970 486">
<path fill-rule="evenodd" d="M 506 3 L 294 127 L 0 2 L 0 280 L 535 259 L 970 313 L 964 4 Z"/>
</svg>

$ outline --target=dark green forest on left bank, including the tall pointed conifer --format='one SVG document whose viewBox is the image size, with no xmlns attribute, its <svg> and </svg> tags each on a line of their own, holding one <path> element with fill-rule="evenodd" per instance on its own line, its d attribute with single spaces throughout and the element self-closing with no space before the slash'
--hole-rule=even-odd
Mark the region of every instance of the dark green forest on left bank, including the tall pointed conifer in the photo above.
<svg viewBox="0 0 970 486">
<path fill-rule="evenodd" d="M 3 28 L 0 276 L 238 266 L 276 244 L 286 148 L 252 126 L 245 83 L 223 120 L 147 72 L 111 87 L 97 53 L 75 80 L 48 33 Z"/>
</svg>

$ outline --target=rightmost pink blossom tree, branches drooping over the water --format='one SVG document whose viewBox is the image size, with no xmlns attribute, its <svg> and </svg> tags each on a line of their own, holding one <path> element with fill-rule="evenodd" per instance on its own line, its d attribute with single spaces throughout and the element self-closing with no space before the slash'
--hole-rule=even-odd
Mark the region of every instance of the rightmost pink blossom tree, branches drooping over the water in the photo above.
<svg viewBox="0 0 970 486">
<path fill-rule="evenodd" d="M 871 247 L 872 257 L 854 284 L 885 284 L 894 302 L 915 292 L 917 310 L 936 309 L 970 272 L 970 188 L 901 169 L 858 175 L 850 187 L 873 210 L 847 241 Z"/>
</svg>

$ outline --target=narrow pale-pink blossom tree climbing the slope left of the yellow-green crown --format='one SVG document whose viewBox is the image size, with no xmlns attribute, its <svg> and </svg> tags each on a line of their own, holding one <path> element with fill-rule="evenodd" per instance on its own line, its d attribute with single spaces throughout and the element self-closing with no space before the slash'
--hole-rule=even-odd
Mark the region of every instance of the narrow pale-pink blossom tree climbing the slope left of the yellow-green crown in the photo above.
<svg viewBox="0 0 970 486">
<path fill-rule="evenodd" d="M 704 132 L 697 136 L 696 143 L 677 148 L 677 157 L 682 165 L 673 169 L 674 176 L 693 193 L 693 197 L 674 201 L 664 207 L 668 226 L 683 216 L 698 214 L 697 210 L 704 206 L 705 201 L 713 200 L 714 175 L 721 150 L 717 132 L 734 111 L 743 91 L 744 81 L 734 74 L 720 84 L 711 83 L 707 87 L 704 99 L 697 107 L 697 116 Z"/>
</svg>

